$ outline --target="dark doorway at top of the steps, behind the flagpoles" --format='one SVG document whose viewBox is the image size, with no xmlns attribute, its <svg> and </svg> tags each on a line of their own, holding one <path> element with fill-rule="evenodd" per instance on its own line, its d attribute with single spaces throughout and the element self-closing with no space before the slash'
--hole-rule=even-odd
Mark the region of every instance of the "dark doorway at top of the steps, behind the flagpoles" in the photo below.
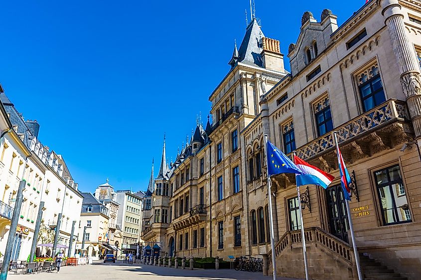
<svg viewBox="0 0 421 280">
<path fill-rule="evenodd" d="M 336 185 L 326 189 L 327 208 L 329 212 L 330 233 L 349 243 L 348 216 L 342 186 Z"/>
</svg>

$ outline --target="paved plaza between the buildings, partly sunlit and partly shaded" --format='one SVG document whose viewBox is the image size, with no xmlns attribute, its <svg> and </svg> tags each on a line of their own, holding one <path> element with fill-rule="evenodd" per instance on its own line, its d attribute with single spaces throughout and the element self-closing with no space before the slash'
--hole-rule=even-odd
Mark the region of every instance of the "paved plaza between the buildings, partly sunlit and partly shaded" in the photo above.
<svg viewBox="0 0 421 280">
<path fill-rule="evenodd" d="M 122 262 L 116 264 L 94 262 L 93 265 L 63 267 L 58 274 L 39 273 L 32 275 L 14 275 L 9 273 L 8 280 L 116 280 L 116 279 L 147 279 L 147 280 L 271 280 L 272 277 L 263 276 L 262 273 L 241 272 L 235 270 L 182 270 L 149 265 L 126 265 Z M 288 280 L 290 278 L 278 278 Z"/>
</svg>

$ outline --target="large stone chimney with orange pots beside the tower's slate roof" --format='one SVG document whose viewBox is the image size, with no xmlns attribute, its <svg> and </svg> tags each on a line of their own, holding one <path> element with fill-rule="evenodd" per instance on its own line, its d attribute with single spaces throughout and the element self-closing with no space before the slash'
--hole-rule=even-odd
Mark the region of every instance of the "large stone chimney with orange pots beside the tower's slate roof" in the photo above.
<svg viewBox="0 0 421 280">
<path fill-rule="evenodd" d="M 279 47 L 279 41 L 271 38 L 262 38 L 263 51 L 261 53 L 263 67 L 269 70 L 285 72 L 283 68 L 283 54 Z"/>
</svg>

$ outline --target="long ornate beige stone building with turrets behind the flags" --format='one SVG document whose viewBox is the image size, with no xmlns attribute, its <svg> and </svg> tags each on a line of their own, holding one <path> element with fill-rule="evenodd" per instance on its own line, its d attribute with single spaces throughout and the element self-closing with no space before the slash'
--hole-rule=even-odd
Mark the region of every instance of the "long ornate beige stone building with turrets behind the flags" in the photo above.
<svg viewBox="0 0 421 280">
<path fill-rule="evenodd" d="M 203 130 L 199 123 L 199 141 L 195 132 L 163 174 L 169 202 L 160 207 L 169 208 L 169 217 L 160 226 L 166 228 L 162 250 L 269 256 L 272 266 L 268 134 L 288 156 L 295 150 L 336 178 L 327 189 L 300 187 L 299 198 L 294 176 L 272 179 L 278 274 L 304 278 L 301 203 L 310 276 L 357 279 L 332 138 L 337 131 L 353 180 L 350 208 L 365 277 L 418 279 L 420 34 L 420 0 L 371 0 L 340 26 L 328 9 L 320 20 L 307 11 L 288 48 L 287 73 L 279 42 L 253 20 L 231 70 L 210 95 L 213 124 Z"/>
</svg>

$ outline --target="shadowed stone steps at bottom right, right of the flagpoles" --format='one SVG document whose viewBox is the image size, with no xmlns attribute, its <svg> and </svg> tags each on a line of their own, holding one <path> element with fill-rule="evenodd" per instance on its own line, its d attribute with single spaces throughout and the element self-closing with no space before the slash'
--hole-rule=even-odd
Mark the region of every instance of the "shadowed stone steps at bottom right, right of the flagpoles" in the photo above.
<svg viewBox="0 0 421 280">
<path fill-rule="evenodd" d="M 376 260 L 371 259 L 364 253 L 360 253 L 360 265 L 365 280 L 408 280 L 406 277 L 401 277 L 399 273 L 383 266 Z"/>
</svg>

